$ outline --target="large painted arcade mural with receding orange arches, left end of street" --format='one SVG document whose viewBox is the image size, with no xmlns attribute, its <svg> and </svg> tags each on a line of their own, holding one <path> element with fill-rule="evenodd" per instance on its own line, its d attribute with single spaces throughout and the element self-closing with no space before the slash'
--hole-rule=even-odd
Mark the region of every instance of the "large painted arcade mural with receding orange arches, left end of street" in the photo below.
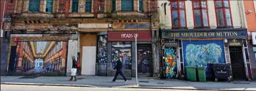
<svg viewBox="0 0 256 91">
<path fill-rule="evenodd" d="M 19 41 L 14 75 L 66 75 L 67 41 Z"/>
</svg>

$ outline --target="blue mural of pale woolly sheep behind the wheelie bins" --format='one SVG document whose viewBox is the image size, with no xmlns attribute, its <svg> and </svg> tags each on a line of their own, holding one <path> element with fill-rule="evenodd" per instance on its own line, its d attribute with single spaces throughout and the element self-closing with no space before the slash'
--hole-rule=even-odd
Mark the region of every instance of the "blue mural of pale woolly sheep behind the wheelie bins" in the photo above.
<svg viewBox="0 0 256 91">
<path fill-rule="evenodd" d="M 222 40 L 183 40 L 182 43 L 185 66 L 206 67 L 207 63 L 225 62 Z"/>
</svg>

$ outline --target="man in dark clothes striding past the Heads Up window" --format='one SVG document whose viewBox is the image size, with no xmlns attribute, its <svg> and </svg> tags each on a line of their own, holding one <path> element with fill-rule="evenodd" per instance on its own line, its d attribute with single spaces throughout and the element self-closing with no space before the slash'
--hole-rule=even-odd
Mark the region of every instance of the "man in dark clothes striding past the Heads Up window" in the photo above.
<svg viewBox="0 0 256 91">
<path fill-rule="evenodd" d="M 116 77 L 117 77 L 117 75 L 120 74 L 123 77 L 123 79 L 124 79 L 123 83 L 126 83 L 127 79 L 126 79 L 126 77 L 122 73 L 122 62 L 121 62 L 119 56 L 117 57 L 117 63 L 116 63 L 116 65 L 115 65 L 115 67 L 113 69 L 116 69 L 116 72 L 115 72 L 115 75 L 114 75 L 114 79 L 111 82 L 114 82 Z"/>
</svg>

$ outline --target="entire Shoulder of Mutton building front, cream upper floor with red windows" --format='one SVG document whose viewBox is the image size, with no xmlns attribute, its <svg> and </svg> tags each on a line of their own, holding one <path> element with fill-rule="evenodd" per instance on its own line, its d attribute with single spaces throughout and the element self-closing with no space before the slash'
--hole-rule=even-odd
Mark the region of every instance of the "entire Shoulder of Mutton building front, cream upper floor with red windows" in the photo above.
<svg viewBox="0 0 256 91">
<path fill-rule="evenodd" d="M 159 0 L 163 73 L 185 66 L 229 63 L 233 79 L 248 79 L 247 28 L 240 0 Z"/>
</svg>

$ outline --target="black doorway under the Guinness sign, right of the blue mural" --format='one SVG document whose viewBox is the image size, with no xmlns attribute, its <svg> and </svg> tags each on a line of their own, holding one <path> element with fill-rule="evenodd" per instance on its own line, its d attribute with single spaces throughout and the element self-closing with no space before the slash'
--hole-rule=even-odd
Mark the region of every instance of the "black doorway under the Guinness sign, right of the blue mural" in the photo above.
<svg viewBox="0 0 256 91">
<path fill-rule="evenodd" d="M 235 80 L 245 80 L 243 53 L 241 46 L 229 46 L 232 76 Z"/>
</svg>

